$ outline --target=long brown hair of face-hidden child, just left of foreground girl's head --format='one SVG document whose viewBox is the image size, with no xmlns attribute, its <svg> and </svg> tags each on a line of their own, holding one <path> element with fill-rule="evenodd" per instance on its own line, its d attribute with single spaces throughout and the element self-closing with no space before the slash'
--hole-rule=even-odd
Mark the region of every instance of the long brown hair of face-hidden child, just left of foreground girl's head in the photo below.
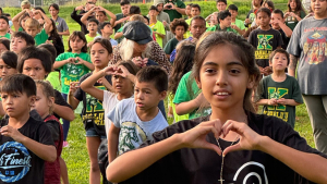
<svg viewBox="0 0 327 184">
<path fill-rule="evenodd" d="M 181 46 L 178 52 L 182 54 L 177 54 L 173 61 L 172 71 L 170 73 L 169 85 L 168 85 L 168 90 L 171 91 L 171 94 L 173 95 L 177 91 L 177 88 L 179 86 L 182 76 L 192 70 L 194 52 L 195 52 L 195 44 L 186 42 L 185 45 Z"/>
</svg>

